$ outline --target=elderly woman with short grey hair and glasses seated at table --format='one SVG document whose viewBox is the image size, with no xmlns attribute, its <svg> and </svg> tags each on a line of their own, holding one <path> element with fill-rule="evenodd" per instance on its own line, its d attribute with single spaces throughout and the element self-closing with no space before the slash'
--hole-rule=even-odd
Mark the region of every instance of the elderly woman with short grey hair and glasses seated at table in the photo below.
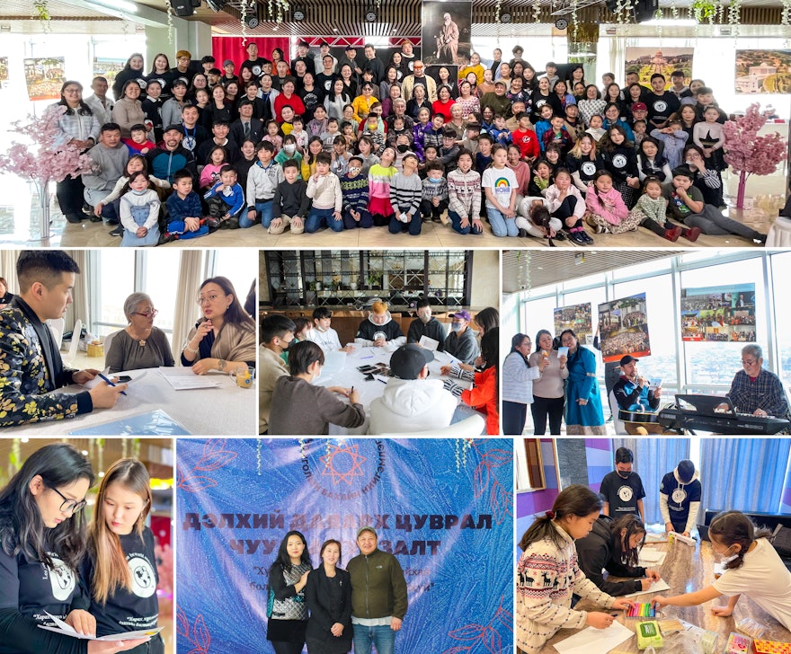
<svg viewBox="0 0 791 654">
<path fill-rule="evenodd" d="M 111 373 L 147 367 L 175 365 L 164 331 L 154 326 L 159 312 L 145 293 L 132 293 L 124 302 L 129 325 L 112 337 L 104 365 Z"/>
</svg>

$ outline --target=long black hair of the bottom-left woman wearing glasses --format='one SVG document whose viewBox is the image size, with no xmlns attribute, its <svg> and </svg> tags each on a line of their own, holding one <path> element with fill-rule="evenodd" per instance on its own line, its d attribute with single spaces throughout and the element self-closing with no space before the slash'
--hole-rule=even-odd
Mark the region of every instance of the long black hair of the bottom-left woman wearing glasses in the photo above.
<svg viewBox="0 0 791 654">
<path fill-rule="evenodd" d="M 30 491 L 31 481 L 37 475 L 48 489 L 68 486 L 80 479 L 87 479 L 93 486 L 94 479 L 91 462 L 73 446 L 54 443 L 41 447 L 0 492 L 0 546 L 8 556 L 22 552 L 50 568 L 54 565 L 49 552 L 55 552 L 76 569 L 87 545 L 85 514 L 79 511 L 56 527 L 45 526 Z"/>
</svg>

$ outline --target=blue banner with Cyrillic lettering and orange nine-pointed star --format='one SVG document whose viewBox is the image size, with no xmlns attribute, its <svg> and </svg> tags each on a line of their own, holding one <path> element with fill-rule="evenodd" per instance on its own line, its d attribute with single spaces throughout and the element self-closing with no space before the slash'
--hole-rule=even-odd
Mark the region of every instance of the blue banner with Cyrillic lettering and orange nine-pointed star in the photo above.
<svg viewBox="0 0 791 654">
<path fill-rule="evenodd" d="M 177 444 L 179 654 L 261 654 L 269 567 L 290 529 L 313 566 L 360 526 L 404 569 L 399 654 L 513 651 L 510 439 L 214 439 Z"/>
</svg>

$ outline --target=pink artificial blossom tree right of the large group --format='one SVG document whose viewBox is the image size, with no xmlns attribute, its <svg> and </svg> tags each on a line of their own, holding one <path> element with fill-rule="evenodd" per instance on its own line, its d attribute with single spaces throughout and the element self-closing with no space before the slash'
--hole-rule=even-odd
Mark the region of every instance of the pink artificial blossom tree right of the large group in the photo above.
<svg viewBox="0 0 791 654">
<path fill-rule="evenodd" d="M 742 117 L 724 124 L 725 162 L 739 173 L 736 208 L 744 207 L 747 178 L 752 174 L 769 175 L 775 172 L 778 163 L 786 158 L 787 143 L 777 132 L 758 136 L 766 121 L 766 116 L 760 114 L 760 104 L 754 102 Z"/>
</svg>

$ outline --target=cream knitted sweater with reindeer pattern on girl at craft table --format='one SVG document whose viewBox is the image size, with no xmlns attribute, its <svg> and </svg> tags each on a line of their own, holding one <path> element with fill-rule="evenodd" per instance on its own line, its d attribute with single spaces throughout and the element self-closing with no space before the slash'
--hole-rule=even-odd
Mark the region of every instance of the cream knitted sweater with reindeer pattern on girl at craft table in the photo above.
<svg viewBox="0 0 791 654">
<path fill-rule="evenodd" d="M 552 526 L 563 545 L 550 538 L 531 543 L 517 564 L 516 644 L 525 654 L 536 654 L 559 629 L 585 626 L 588 612 L 571 608 L 573 594 L 608 608 L 615 602 L 580 570 L 573 538 Z"/>
</svg>

